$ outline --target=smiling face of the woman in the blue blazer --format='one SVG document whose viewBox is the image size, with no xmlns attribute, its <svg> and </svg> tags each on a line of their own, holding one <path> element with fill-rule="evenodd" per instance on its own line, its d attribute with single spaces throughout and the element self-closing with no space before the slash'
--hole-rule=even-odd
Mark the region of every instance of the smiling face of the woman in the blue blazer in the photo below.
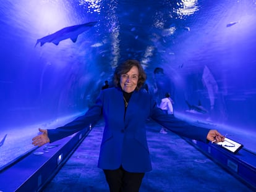
<svg viewBox="0 0 256 192">
<path fill-rule="evenodd" d="M 120 85 L 123 91 L 131 93 L 137 87 L 139 80 L 139 69 L 133 66 L 129 72 L 122 74 L 120 78 Z"/>
</svg>

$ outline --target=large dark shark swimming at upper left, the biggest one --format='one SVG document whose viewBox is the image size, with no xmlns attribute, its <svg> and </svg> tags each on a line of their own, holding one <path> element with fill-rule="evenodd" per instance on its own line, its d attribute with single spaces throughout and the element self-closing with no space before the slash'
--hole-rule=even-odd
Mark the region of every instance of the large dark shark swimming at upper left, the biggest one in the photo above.
<svg viewBox="0 0 256 192">
<path fill-rule="evenodd" d="M 60 41 L 66 40 L 70 38 L 74 43 L 77 41 L 77 37 L 83 33 L 84 31 L 87 31 L 91 27 L 93 27 L 97 22 L 89 22 L 84 23 L 81 25 L 73 25 L 70 27 L 62 28 L 59 31 L 56 31 L 55 33 L 51 35 L 44 36 L 41 39 L 38 39 L 36 41 L 35 46 L 40 43 L 40 46 L 43 46 L 45 43 L 53 43 L 58 45 Z"/>
</svg>

